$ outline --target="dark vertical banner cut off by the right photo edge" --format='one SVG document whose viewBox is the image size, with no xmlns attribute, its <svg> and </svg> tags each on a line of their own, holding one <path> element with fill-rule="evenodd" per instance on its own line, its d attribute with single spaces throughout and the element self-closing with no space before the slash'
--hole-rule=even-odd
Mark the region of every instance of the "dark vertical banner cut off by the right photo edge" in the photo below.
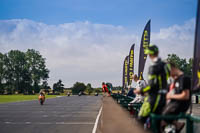
<svg viewBox="0 0 200 133">
<path fill-rule="evenodd" d="M 194 60 L 193 60 L 193 92 L 200 91 L 200 0 L 198 0 L 195 42 L 194 42 Z"/>
</svg>

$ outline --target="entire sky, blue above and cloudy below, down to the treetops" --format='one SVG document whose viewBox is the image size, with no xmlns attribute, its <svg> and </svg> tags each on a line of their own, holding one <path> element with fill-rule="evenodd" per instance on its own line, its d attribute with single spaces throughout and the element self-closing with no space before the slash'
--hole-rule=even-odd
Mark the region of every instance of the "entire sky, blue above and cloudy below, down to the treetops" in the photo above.
<svg viewBox="0 0 200 133">
<path fill-rule="evenodd" d="M 0 52 L 33 48 L 46 58 L 49 85 L 61 79 L 101 86 L 122 83 L 133 43 L 135 73 L 145 24 L 160 56 L 193 55 L 197 0 L 0 0 Z M 150 61 L 145 66 L 145 76 Z"/>
</svg>

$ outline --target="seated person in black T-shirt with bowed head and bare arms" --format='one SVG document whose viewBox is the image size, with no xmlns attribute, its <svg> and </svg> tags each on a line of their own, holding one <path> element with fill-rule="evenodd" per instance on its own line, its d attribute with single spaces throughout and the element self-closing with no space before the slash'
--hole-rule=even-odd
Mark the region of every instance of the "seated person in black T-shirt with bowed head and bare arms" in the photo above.
<svg viewBox="0 0 200 133">
<path fill-rule="evenodd" d="M 167 105 L 164 107 L 162 115 L 178 115 L 181 112 L 185 113 L 190 106 L 191 100 L 191 79 L 185 76 L 174 63 L 170 63 L 170 66 L 170 76 L 172 77 L 173 82 L 170 85 L 170 91 L 166 95 Z M 162 121 L 162 128 L 164 128 L 167 123 L 173 123 L 177 132 L 180 132 L 184 127 L 184 123 L 181 122 Z"/>
</svg>

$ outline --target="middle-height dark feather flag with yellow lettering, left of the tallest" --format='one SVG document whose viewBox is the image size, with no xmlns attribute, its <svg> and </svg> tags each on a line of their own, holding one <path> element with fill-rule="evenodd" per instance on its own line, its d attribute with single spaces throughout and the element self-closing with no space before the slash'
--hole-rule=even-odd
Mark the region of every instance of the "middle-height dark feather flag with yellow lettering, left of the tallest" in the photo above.
<svg viewBox="0 0 200 133">
<path fill-rule="evenodd" d="M 128 85 L 132 83 L 132 75 L 134 74 L 134 47 L 135 44 L 131 46 L 129 52 L 129 64 L 128 64 Z"/>
</svg>

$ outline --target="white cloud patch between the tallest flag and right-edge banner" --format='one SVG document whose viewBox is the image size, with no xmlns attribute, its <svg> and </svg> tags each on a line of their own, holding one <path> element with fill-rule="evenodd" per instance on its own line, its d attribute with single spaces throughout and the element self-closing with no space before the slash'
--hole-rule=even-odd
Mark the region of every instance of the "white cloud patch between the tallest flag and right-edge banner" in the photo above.
<svg viewBox="0 0 200 133">
<path fill-rule="evenodd" d="M 186 21 L 183 25 L 173 25 L 160 29 L 160 32 L 152 34 L 152 43 L 160 48 L 163 57 L 175 53 L 180 57 L 191 58 L 194 47 L 195 20 Z"/>
</svg>

